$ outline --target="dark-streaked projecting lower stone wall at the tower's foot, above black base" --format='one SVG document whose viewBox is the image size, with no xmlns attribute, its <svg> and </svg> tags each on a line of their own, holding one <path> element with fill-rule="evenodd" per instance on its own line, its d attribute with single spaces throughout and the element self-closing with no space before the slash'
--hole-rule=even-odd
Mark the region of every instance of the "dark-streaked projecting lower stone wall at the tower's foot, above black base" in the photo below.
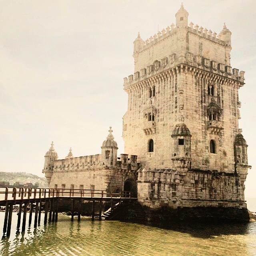
<svg viewBox="0 0 256 256">
<path fill-rule="evenodd" d="M 138 201 L 150 208 L 246 208 L 244 178 L 234 173 L 187 168 L 143 169 L 138 175 Z"/>
</svg>

